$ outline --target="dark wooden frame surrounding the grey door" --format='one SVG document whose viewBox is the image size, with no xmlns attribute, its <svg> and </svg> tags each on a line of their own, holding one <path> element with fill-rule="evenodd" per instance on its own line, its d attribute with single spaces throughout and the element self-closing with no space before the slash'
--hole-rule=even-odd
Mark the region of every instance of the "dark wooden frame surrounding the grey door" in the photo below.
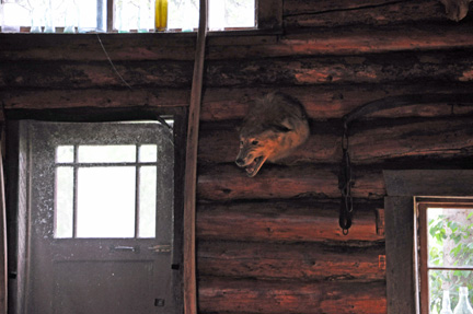
<svg viewBox="0 0 473 314">
<path fill-rule="evenodd" d="M 174 246 L 172 252 L 172 276 L 176 284 L 174 289 L 176 300 L 176 313 L 184 309 L 183 282 L 183 247 L 184 247 L 184 165 L 185 165 L 185 142 L 187 127 L 187 107 L 169 107 L 145 109 L 141 107 L 129 108 L 93 108 L 93 109 L 13 109 L 8 112 L 7 120 L 7 159 L 5 159 L 5 194 L 8 232 L 8 309 L 9 313 L 24 313 L 24 284 L 21 282 L 21 272 L 24 271 L 20 260 L 22 239 L 19 233 L 25 232 L 22 225 L 27 222 L 25 216 L 26 199 L 19 196 L 19 185 L 26 184 L 21 182 L 20 173 L 26 175 L 25 160 L 22 156 L 20 147 L 20 121 L 24 119 L 44 121 L 83 121 L 83 123 L 109 123 L 124 120 L 161 120 L 162 117 L 173 117 L 173 138 L 174 138 Z M 24 236 L 24 235 L 23 235 Z"/>
</svg>

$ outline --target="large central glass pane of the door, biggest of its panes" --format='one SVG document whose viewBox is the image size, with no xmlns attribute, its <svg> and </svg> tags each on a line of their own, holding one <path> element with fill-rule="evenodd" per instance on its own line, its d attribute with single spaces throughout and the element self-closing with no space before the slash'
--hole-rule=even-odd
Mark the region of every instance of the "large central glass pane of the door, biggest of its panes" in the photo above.
<svg viewBox="0 0 473 314">
<path fill-rule="evenodd" d="M 78 237 L 135 236 L 134 166 L 78 171 Z"/>
</svg>

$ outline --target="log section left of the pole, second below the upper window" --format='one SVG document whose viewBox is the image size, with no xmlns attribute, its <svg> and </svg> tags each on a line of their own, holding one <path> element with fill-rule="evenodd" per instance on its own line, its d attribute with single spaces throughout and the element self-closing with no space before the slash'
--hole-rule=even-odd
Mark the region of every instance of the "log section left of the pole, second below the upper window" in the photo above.
<svg viewBox="0 0 473 314">
<path fill-rule="evenodd" d="M 145 86 L 188 88 L 191 62 L 0 62 L 0 86 L 83 89 Z"/>
</svg>

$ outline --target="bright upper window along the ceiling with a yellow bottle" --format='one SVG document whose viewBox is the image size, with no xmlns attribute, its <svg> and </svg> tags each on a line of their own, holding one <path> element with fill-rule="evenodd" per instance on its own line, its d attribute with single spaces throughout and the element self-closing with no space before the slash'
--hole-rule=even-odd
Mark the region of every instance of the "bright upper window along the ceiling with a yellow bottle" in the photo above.
<svg viewBox="0 0 473 314">
<path fill-rule="evenodd" d="M 2 0 L 3 32 L 193 32 L 199 0 Z M 209 30 L 257 26 L 255 0 L 209 0 Z"/>
</svg>

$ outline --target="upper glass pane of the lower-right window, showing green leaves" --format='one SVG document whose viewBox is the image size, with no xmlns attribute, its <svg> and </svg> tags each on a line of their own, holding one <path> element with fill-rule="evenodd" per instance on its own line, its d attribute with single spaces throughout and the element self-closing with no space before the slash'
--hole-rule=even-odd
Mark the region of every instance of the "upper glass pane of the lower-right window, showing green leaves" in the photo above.
<svg viewBox="0 0 473 314">
<path fill-rule="evenodd" d="M 428 208 L 429 266 L 473 266 L 473 209 Z"/>
</svg>

